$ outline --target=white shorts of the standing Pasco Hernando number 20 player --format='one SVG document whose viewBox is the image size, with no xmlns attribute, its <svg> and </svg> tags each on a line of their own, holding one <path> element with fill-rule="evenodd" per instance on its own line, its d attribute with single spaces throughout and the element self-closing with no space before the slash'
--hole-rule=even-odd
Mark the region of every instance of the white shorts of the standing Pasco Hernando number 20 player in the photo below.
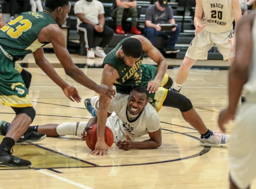
<svg viewBox="0 0 256 189">
<path fill-rule="evenodd" d="M 228 39 L 232 38 L 233 33 L 233 29 L 224 33 L 211 33 L 203 30 L 192 40 L 185 56 L 194 60 L 207 60 L 208 51 L 215 44 L 223 60 L 232 58 L 235 53 L 230 52 L 231 44 Z"/>
</svg>

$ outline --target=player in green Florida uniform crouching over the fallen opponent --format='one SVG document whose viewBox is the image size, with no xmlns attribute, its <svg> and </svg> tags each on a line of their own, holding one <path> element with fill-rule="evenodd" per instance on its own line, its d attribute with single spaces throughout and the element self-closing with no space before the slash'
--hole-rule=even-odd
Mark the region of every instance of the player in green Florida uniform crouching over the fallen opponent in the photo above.
<svg viewBox="0 0 256 189">
<path fill-rule="evenodd" d="M 142 64 L 143 51 L 158 64 L 158 67 Z M 152 105 L 157 111 L 162 106 L 178 108 L 182 117 L 200 134 L 200 145 L 225 146 L 229 135 L 217 134 L 206 128 L 202 119 L 193 108 L 191 101 L 171 88 L 172 80 L 166 74 L 167 63 L 163 55 L 143 36 L 135 35 L 124 40 L 104 58 L 102 83 L 115 85 L 117 93 L 129 93 L 132 86 L 143 85 L 149 90 Z M 107 119 L 107 108 L 110 99 L 100 96 L 97 117 L 97 143 L 94 155 L 104 155 L 110 149 L 104 142 L 104 129 Z M 136 110 L 136 107 L 134 107 Z"/>
</svg>

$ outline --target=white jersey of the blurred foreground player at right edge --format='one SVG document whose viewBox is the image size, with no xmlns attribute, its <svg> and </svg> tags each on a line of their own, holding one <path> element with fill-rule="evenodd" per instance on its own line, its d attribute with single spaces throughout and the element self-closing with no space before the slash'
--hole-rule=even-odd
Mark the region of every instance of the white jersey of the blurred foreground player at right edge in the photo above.
<svg viewBox="0 0 256 189">
<path fill-rule="evenodd" d="M 253 51 L 249 69 L 249 79 L 243 86 L 243 94 L 248 102 L 256 102 L 256 17 L 252 26 Z"/>
</svg>

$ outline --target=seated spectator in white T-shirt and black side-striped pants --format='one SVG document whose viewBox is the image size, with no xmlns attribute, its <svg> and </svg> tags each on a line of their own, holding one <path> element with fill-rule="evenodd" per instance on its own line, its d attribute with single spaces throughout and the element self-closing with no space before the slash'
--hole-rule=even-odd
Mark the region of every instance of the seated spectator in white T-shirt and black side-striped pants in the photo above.
<svg viewBox="0 0 256 189">
<path fill-rule="evenodd" d="M 105 25 L 104 7 L 98 0 L 79 0 L 75 3 L 74 12 L 77 15 L 77 29 L 83 31 L 87 48 L 87 57 L 105 57 L 104 48 L 114 35 L 113 29 Z M 101 37 L 99 46 L 93 46 L 93 36 Z"/>
</svg>

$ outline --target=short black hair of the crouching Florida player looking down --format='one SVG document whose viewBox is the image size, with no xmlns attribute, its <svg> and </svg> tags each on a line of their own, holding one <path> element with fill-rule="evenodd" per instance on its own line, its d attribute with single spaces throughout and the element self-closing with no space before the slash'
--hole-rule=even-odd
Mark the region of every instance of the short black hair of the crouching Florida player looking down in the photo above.
<svg viewBox="0 0 256 189">
<path fill-rule="evenodd" d="M 142 55 L 142 44 L 136 38 L 128 38 L 122 44 L 122 51 L 126 56 L 139 58 Z"/>
</svg>

